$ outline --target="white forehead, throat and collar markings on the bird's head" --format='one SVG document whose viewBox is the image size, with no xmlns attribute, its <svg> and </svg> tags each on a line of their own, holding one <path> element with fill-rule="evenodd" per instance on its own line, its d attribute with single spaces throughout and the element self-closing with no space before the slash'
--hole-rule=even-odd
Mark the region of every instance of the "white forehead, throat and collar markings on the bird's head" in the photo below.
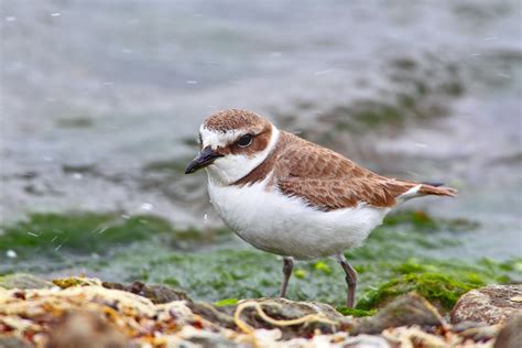
<svg viewBox="0 0 522 348">
<path fill-rule="evenodd" d="M 222 145 L 222 143 L 228 139 L 235 139 L 237 137 L 237 131 L 228 131 L 225 133 L 215 133 L 209 134 L 209 130 L 202 132 L 204 138 L 204 144 L 206 140 L 209 140 L 209 145 Z M 260 165 L 270 152 L 275 148 L 275 144 L 279 140 L 279 130 L 275 126 L 272 124 L 272 135 L 270 137 L 270 142 L 267 148 L 251 156 L 244 154 L 228 154 L 224 157 L 219 157 L 214 161 L 213 164 L 206 167 L 208 182 L 216 186 L 228 186 L 241 177 L 249 174 L 258 165 Z M 213 143 L 210 143 L 213 142 Z"/>
</svg>

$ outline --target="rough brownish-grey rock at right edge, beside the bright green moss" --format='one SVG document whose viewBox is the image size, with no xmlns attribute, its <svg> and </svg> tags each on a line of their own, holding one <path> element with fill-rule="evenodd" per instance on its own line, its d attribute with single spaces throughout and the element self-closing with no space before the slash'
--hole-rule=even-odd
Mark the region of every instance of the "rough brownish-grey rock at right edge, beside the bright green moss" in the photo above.
<svg viewBox="0 0 522 348">
<path fill-rule="evenodd" d="M 463 320 L 490 325 L 522 314 L 522 284 L 488 285 L 464 294 L 452 311 L 452 323 Z"/>
</svg>

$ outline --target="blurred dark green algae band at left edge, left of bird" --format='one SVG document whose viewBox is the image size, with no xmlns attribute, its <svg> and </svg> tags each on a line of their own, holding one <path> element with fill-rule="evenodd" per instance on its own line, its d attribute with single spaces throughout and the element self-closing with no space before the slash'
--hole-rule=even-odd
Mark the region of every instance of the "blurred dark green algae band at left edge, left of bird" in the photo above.
<svg viewBox="0 0 522 348">
<path fill-rule="evenodd" d="M 0 252 L 13 250 L 21 259 L 36 255 L 59 259 L 64 253 L 105 254 L 117 247 L 153 240 L 176 249 L 229 235 L 224 229 L 178 230 L 157 216 L 119 213 L 31 214 L 1 228 Z"/>
</svg>

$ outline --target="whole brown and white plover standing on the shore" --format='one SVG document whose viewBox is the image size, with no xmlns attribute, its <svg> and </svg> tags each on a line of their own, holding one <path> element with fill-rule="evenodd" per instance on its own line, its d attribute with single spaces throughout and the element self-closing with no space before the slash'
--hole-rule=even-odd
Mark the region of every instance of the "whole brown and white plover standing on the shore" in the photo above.
<svg viewBox="0 0 522 348">
<path fill-rule="evenodd" d="M 249 110 L 211 113 L 198 138 L 199 153 L 185 174 L 205 168 L 224 222 L 254 248 L 282 257 L 281 297 L 294 260 L 331 257 L 346 274 L 346 305 L 354 307 L 357 272 L 345 251 L 361 246 L 401 203 L 457 195 L 442 184 L 376 174 Z"/>
</svg>

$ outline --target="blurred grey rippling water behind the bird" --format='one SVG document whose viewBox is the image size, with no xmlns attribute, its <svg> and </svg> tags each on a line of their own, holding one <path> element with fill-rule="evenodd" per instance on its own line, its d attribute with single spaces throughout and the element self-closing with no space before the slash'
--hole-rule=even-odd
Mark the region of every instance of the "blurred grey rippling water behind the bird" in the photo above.
<svg viewBox="0 0 522 348">
<path fill-rule="evenodd" d="M 478 226 L 426 252 L 521 255 L 520 1 L 2 0 L 0 21 L 4 235 L 69 211 L 221 228 L 205 174 L 183 170 L 199 123 L 233 107 L 380 174 L 457 187 L 405 205 Z M 25 261 L 70 243 L 53 228 Z M 23 269 L 11 242 L 3 272 Z"/>
</svg>

